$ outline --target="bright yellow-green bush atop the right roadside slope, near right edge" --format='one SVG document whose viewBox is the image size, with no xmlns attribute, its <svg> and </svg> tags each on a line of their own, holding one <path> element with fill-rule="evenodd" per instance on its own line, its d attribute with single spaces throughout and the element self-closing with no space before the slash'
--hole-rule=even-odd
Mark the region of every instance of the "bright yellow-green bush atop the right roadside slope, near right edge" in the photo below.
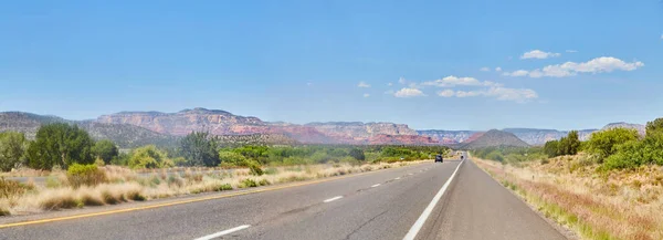
<svg viewBox="0 0 663 240">
<path fill-rule="evenodd" d="M 612 128 L 591 134 L 587 142 L 587 150 L 599 156 L 599 161 L 617 153 L 617 146 L 627 142 L 636 140 L 638 131 L 629 128 Z"/>
</svg>

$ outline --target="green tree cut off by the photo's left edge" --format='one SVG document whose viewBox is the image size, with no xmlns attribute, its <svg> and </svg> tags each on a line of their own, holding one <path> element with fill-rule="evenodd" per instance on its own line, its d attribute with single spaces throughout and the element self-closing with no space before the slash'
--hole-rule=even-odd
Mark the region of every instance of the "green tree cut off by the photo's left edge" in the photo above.
<svg viewBox="0 0 663 240">
<path fill-rule="evenodd" d="M 9 171 L 24 161 L 28 140 L 15 132 L 0 133 L 0 170 Z"/>
</svg>

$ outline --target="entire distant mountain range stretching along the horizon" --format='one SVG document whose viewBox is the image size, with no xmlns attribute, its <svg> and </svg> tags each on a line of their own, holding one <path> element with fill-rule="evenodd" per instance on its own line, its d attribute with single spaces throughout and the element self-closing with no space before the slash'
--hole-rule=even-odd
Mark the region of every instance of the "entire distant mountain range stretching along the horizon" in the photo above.
<svg viewBox="0 0 663 240">
<path fill-rule="evenodd" d="M 177 113 L 120 112 L 103 115 L 92 121 L 69 121 L 57 116 L 44 116 L 22 112 L 0 113 L 0 132 L 18 131 L 34 137 L 36 129 L 48 123 L 72 123 L 97 139 L 113 139 L 120 147 L 130 148 L 146 144 L 172 145 L 178 138 L 193 131 L 224 136 L 229 143 L 253 144 L 402 144 L 402 145 L 466 145 L 480 139 L 486 132 L 476 131 L 414 131 L 406 124 L 327 122 L 291 124 L 264 122 L 253 116 L 240 116 L 220 109 L 193 108 Z M 639 124 L 612 123 L 604 128 L 630 127 L 644 134 Z M 582 140 L 598 129 L 579 131 Z M 528 145 L 543 145 L 559 139 L 567 131 L 536 128 L 505 128 Z M 493 137 L 494 133 L 488 135 Z M 511 136 L 505 140 L 511 142 Z M 493 139 L 491 138 L 491 139 Z M 520 143 L 513 142 L 515 145 Z"/>
</svg>

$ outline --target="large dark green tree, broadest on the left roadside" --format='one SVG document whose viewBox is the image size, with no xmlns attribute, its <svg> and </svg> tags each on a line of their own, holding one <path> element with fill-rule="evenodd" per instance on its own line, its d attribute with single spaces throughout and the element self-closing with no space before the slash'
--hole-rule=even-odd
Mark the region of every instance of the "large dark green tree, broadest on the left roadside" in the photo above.
<svg viewBox="0 0 663 240">
<path fill-rule="evenodd" d="M 43 125 L 28 147 L 28 165 L 36 169 L 51 169 L 59 165 L 66 169 L 74 163 L 93 164 L 93 144 L 87 132 L 78 126 L 65 123 Z"/>
</svg>

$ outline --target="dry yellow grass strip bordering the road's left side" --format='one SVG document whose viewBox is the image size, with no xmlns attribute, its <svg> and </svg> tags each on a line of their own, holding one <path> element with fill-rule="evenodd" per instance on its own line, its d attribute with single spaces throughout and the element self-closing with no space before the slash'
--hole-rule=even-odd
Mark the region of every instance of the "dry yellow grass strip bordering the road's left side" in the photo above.
<svg viewBox="0 0 663 240">
<path fill-rule="evenodd" d="M 249 169 L 238 168 L 224 171 L 210 171 L 208 168 L 181 168 L 181 174 L 152 170 L 150 175 L 105 166 L 108 184 L 82 186 L 69 185 L 64 173 L 51 173 L 50 184 L 36 186 L 34 190 L 20 196 L 0 198 L 0 211 L 11 215 L 24 215 L 56 209 L 80 208 L 83 206 L 115 205 L 126 201 L 149 200 L 179 195 L 231 190 L 272 184 L 302 181 L 355 173 L 372 171 L 392 167 L 402 167 L 421 161 L 379 163 L 351 165 L 307 165 L 272 167 L 264 175 L 253 176 Z M 177 173 L 177 171 L 176 171 Z"/>
</svg>

